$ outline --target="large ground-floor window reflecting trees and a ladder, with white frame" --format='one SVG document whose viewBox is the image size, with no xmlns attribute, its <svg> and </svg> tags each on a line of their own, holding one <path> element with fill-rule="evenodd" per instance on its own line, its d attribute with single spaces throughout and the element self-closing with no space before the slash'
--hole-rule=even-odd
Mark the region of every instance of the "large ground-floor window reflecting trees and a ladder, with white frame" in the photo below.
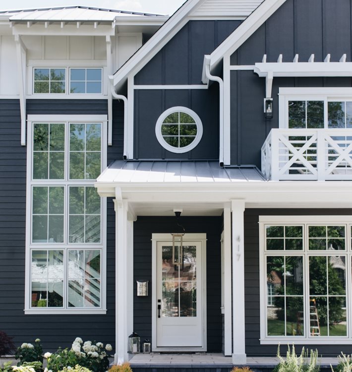
<svg viewBox="0 0 352 372">
<path fill-rule="evenodd" d="M 260 216 L 261 343 L 351 343 L 352 218 Z"/>
</svg>

